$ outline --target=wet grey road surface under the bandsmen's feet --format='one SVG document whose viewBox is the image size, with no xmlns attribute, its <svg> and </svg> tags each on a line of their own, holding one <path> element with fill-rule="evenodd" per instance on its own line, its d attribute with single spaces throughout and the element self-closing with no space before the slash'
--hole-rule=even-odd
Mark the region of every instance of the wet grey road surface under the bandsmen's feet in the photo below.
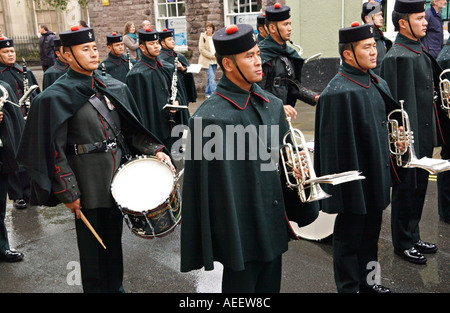
<svg viewBox="0 0 450 313">
<path fill-rule="evenodd" d="M 41 81 L 39 69 L 32 70 Z M 309 140 L 313 136 L 314 108 L 299 103 L 297 109 L 302 118 L 295 126 L 302 129 Z M 436 182 L 430 180 L 421 234 L 423 240 L 436 243 L 439 251 L 427 256 L 426 265 L 414 265 L 394 255 L 390 207 L 384 211 L 379 241 L 381 282 L 395 293 L 450 292 L 450 225 L 438 217 L 436 192 Z M 77 281 L 74 219 L 68 209 L 59 205 L 16 210 L 9 202 L 6 225 L 11 246 L 24 252 L 25 259 L 13 264 L 0 263 L 0 293 L 82 292 Z M 321 229 L 330 227 L 321 226 Z M 220 292 L 220 264 L 216 264 L 214 271 L 180 273 L 179 237 L 179 227 L 164 238 L 149 240 L 133 235 L 124 226 L 124 288 L 128 293 Z M 305 239 L 291 242 L 283 256 L 282 274 L 281 292 L 284 294 L 335 293 L 330 238 L 320 242 Z M 290 301 L 295 299 L 289 298 Z"/>
</svg>

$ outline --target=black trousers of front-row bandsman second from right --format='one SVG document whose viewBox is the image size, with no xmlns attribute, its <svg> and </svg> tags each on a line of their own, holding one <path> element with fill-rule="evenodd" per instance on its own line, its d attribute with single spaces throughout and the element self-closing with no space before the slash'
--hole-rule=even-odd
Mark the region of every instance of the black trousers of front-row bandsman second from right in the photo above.
<svg viewBox="0 0 450 313">
<path fill-rule="evenodd" d="M 333 231 L 333 267 L 338 292 L 358 292 L 368 287 L 369 262 L 378 261 L 383 211 L 336 216 Z"/>
</svg>

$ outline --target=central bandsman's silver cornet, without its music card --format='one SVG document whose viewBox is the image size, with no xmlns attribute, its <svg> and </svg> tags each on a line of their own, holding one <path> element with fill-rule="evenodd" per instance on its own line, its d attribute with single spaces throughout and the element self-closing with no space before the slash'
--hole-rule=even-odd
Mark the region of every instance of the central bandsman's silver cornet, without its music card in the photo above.
<svg viewBox="0 0 450 313">
<path fill-rule="evenodd" d="M 312 202 L 329 198 L 330 195 L 323 191 L 318 183 L 308 183 L 308 179 L 317 179 L 317 177 L 306 147 L 305 137 L 300 130 L 292 127 L 290 117 L 287 117 L 286 120 L 289 125 L 289 131 L 283 137 L 280 154 L 287 186 L 291 189 L 297 188 L 302 202 Z M 297 140 L 300 140 L 300 143 Z M 301 149 L 305 151 L 304 155 L 300 154 Z M 294 168 L 300 169 L 302 173 L 301 178 L 295 174 Z M 306 196 L 306 188 L 310 188 L 308 197 Z"/>
</svg>

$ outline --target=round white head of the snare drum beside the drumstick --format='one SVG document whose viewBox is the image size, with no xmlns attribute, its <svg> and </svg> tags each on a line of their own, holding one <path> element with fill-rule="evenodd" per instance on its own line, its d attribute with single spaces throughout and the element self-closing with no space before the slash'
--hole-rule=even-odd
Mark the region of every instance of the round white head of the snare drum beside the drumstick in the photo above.
<svg viewBox="0 0 450 313">
<path fill-rule="evenodd" d="M 156 158 L 125 163 L 114 176 L 111 193 L 117 204 L 135 212 L 150 211 L 169 199 L 174 173 Z"/>
</svg>

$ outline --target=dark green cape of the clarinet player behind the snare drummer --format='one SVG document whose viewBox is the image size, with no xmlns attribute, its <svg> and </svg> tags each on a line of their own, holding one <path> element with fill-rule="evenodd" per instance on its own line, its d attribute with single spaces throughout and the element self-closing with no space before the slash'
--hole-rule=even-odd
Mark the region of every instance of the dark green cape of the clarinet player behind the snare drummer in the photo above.
<svg viewBox="0 0 450 313">
<path fill-rule="evenodd" d="M 169 110 L 163 110 L 163 107 L 169 103 L 171 96 L 173 71 L 172 64 L 142 55 L 126 77 L 126 84 L 136 100 L 144 126 L 160 138 L 169 151 L 174 138 L 171 137 Z M 180 105 L 187 105 L 184 89 L 178 88 L 177 100 Z M 182 114 L 177 113 L 176 117 L 178 124 L 187 125 L 189 112 L 180 112 Z"/>
</svg>

